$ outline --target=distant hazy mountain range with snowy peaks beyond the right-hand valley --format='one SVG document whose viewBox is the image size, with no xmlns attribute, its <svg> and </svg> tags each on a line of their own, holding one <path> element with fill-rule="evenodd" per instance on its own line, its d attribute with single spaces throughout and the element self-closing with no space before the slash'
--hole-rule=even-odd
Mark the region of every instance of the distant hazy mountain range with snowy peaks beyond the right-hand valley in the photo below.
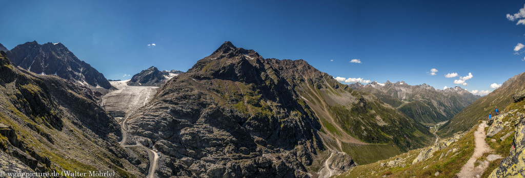
<svg viewBox="0 0 525 178">
<path fill-rule="evenodd" d="M 427 84 L 408 85 L 404 81 L 396 83 L 374 81 L 358 88 L 360 91 L 373 93 L 381 101 L 397 107 L 408 117 L 428 124 L 451 119 L 461 109 L 479 98 L 459 86 L 435 90 Z"/>
</svg>

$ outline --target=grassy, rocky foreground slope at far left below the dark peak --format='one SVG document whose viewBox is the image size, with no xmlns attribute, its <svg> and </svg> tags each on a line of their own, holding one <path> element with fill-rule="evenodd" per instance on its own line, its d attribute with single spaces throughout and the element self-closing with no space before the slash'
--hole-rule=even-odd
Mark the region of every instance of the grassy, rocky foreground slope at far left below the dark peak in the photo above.
<svg viewBox="0 0 525 178">
<path fill-rule="evenodd" d="M 90 90 L 57 76 L 15 68 L 0 52 L 3 171 L 95 169 L 116 170 L 118 177 L 141 176 L 145 170 L 135 166 L 140 164 L 136 155 L 119 146 L 120 138 L 120 126 Z"/>
</svg>

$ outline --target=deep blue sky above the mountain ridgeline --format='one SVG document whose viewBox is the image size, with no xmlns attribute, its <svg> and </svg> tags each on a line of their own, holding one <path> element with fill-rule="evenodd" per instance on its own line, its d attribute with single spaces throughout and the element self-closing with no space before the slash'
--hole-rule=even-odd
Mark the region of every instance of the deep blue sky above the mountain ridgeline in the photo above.
<svg viewBox="0 0 525 178">
<path fill-rule="evenodd" d="M 152 65 L 186 71 L 224 41 L 232 41 L 265 58 L 304 59 L 334 77 L 443 89 L 471 73 L 468 85 L 459 86 L 492 91 L 492 83 L 525 72 L 525 49 L 514 51 L 525 43 L 525 26 L 517 25 L 520 15 L 514 21 L 506 17 L 524 4 L 7 1 L 0 12 L 0 43 L 12 49 L 33 40 L 61 42 L 108 79 L 129 79 L 123 75 Z M 353 59 L 361 63 L 351 63 Z M 431 69 L 437 69 L 435 75 Z M 447 78 L 447 73 L 458 76 Z"/>
</svg>

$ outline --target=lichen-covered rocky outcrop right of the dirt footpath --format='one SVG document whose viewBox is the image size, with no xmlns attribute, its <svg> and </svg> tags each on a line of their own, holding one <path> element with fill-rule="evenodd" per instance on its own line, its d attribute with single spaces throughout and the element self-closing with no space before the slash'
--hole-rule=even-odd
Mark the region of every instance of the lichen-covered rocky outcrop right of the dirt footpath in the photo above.
<svg viewBox="0 0 525 178">
<path fill-rule="evenodd" d="M 501 160 L 499 167 L 492 171 L 490 177 L 523 177 L 525 176 L 525 114 L 517 113 L 514 118 L 514 141 L 510 156 Z"/>
</svg>

